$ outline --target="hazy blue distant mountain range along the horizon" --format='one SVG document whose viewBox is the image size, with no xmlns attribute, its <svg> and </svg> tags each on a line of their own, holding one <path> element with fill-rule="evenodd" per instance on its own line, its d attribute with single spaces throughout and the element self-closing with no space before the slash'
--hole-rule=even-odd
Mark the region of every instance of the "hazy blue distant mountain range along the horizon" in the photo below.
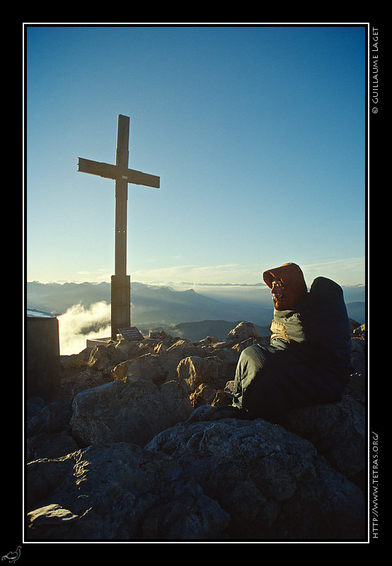
<svg viewBox="0 0 392 566">
<path fill-rule="evenodd" d="M 344 291 L 350 318 L 363 323 L 365 319 L 364 286 L 347 287 Z M 43 284 L 27 282 L 25 294 L 28 308 L 62 314 L 76 304 L 81 304 L 84 308 L 89 308 L 100 301 L 110 304 L 110 283 Z M 206 294 L 199 294 L 193 289 L 175 291 L 170 287 L 138 282 L 132 283 L 131 303 L 131 323 L 141 329 L 166 328 L 171 325 L 214 320 L 230 324 L 249 320 L 255 325 L 265 327 L 270 324 L 273 313 L 269 292 L 263 294 L 260 291 L 260 300 L 250 304 L 241 302 L 241 299 L 238 301 L 226 298 L 212 299 L 207 296 L 207 288 Z M 180 328 L 178 331 L 182 330 Z"/>
</svg>

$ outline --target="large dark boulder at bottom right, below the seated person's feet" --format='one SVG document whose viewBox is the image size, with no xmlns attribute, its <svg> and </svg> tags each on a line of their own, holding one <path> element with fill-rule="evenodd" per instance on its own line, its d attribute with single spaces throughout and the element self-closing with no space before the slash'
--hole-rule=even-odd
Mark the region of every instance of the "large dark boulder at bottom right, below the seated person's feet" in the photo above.
<svg viewBox="0 0 392 566">
<path fill-rule="evenodd" d="M 208 409 L 200 410 L 205 417 Z M 184 422 L 158 434 L 145 450 L 182 464 L 229 513 L 234 540 L 366 536 L 359 487 L 330 468 L 313 444 L 278 425 L 261 419 Z"/>
</svg>

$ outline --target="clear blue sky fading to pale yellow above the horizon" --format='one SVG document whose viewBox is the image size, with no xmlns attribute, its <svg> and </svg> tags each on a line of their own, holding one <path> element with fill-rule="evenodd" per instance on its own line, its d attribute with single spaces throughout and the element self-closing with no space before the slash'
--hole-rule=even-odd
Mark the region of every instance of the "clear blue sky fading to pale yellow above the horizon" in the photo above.
<svg viewBox="0 0 392 566">
<path fill-rule="evenodd" d="M 110 281 L 130 117 L 132 281 L 248 283 L 284 262 L 365 282 L 364 25 L 29 25 L 25 276 Z"/>
</svg>

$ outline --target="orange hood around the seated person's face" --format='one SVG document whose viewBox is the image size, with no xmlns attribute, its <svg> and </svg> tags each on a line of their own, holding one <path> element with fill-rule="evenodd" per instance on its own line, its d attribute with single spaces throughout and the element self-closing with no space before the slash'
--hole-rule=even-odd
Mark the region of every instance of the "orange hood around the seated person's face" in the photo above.
<svg viewBox="0 0 392 566">
<path fill-rule="evenodd" d="M 263 273 L 265 283 L 272 289 L 272 280 L 280 279 L 283 284 L 283 294 L 280 297 L 272 296 L 277 311 L 285 311 L 292 308 L 304 298 L 308 292 L 304 274 L 301 267 L 296 263 L 284 263 L 280 267 L 274 267 Z"/>
</svg>

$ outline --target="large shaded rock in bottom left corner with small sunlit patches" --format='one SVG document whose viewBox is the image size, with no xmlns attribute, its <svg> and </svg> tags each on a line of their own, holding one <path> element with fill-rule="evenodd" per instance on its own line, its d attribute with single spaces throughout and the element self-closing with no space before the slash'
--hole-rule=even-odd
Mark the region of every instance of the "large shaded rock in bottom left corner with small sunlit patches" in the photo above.
<svg viewBox="0 0 392 566">
<path fill-rule="evenodd" d="M 165 454 L 90 446 L 27 466 L 28 540 L 209 541 L 229 515 Z"/>
</svg>

